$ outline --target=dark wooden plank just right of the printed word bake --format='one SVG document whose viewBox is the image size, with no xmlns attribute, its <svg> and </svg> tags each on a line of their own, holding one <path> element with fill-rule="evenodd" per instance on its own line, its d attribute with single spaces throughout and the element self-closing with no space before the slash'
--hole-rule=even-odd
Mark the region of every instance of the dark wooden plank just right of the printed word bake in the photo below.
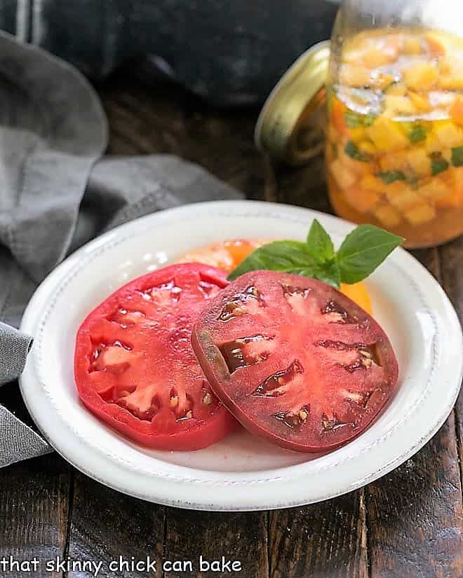
<svg viewBox="0 0 463 578">
<path fill-rule="evenodd" d="M 368 578 L 363 490 L 270 513 L 271 578 Z"/>
</svg>

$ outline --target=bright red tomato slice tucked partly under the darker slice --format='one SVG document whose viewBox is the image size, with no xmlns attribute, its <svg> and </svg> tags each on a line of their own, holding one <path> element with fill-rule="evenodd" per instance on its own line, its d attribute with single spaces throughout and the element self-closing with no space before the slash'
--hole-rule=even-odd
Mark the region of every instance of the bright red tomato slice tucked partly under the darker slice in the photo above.
<svg viewBox="0 0 463 578">
<path fill-rule="evenodd" d="M 74 358 L 88 409 L 153 448 L 196 450 L 222 439 L 234 418 L 210 389 L 191 333 L 201 308 L 226 285 L 220 269 L 173 265 L 93 310 L 77 333 Z"/>
</svg>

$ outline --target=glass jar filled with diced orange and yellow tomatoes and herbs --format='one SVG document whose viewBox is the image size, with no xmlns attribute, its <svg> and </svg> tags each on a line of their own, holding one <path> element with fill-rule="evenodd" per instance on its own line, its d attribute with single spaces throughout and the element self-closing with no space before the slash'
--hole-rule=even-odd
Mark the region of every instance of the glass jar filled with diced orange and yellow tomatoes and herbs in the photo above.
<svg viewBox="0 0 463 578">
<path fill-rule="evenodd" d="M 463 233 L 462 36 L 455 0 L 346 0 L 333 28 L 330 200 L 407 247 Z"/>
</svg>

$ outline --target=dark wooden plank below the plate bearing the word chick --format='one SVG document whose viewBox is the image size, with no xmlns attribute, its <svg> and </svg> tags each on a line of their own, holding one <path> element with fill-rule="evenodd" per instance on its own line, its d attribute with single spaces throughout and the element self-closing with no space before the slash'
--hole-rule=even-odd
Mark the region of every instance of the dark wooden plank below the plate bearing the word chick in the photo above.
<svg viewBox="0 0 463 578">
<path fill-rule="evenodd" d="M 164 519 L 162 506 L 110 490 L 77 472 L 66 554 L 70 560 L 101 562 L 100 578 L 146 578 L 153 572 L 132 563 L 156 560 L 156 570 L 161 568 Z M 156 575 L 162 574 L 158 570 Z M 93 573 L 76 568 L 65 576 L 90 578 Z"/>
</svg>

